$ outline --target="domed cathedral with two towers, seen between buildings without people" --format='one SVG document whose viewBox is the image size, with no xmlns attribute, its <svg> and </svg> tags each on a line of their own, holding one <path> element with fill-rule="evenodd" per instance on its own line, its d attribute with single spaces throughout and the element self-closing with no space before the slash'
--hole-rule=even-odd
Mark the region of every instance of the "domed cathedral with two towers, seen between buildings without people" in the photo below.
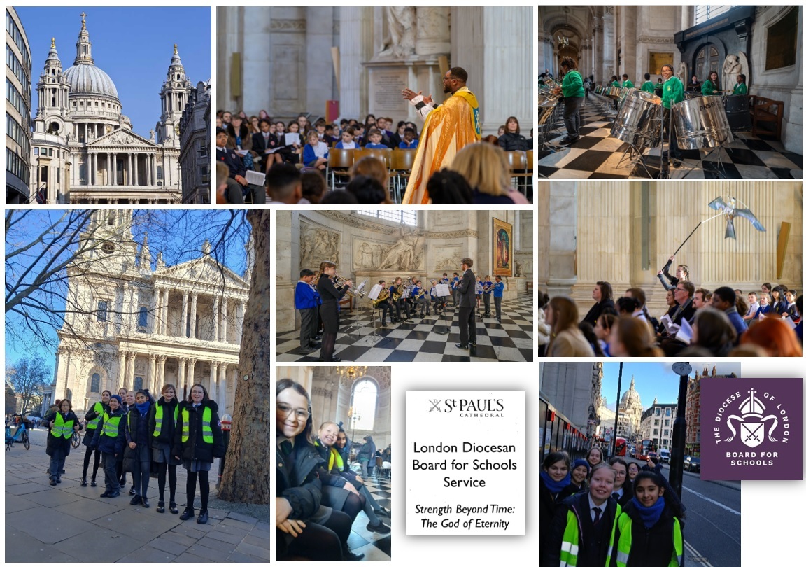
<svg viewBox="0 0 806 567">
<path fill-rule="evenodd" d="M 131 130 L 118 90 L 93 61 L 85 15 L 73 66 L 62 70 L 56 40 L 36 85 L 31 196 L 42 204 L 181 202 L 179 122 L 191 83 L 174 45 L 160 90 L 161 114 L 146 139 Z"/>
</svg>

